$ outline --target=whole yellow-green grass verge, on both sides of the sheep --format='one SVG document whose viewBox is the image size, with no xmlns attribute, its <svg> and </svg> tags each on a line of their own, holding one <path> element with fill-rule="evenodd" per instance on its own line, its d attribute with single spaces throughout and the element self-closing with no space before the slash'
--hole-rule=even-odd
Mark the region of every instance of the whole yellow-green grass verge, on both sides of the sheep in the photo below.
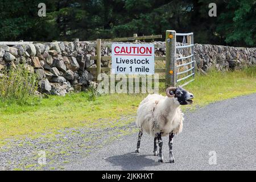
<svg viewBox="0 0 256 182">
<path fill-rule="evenodd" d="M 256 67 L 242 71 L 196 75 L 196 80 L 184 87 L 195 95 L 193 109 L 211 102 L 256 92 Z M 146 94 L 108 94 L 90 101 L 89 93 L 72 93 L 65 97 L 49 96 L 31 100 L 32 105 L 0 104 L 0 139 L 38 137 L 42 133 L 58 133 L 69 127 L 115 127 L 127 125 L 133 119 L 118 119 L 135 115 Z M 34 103 L 35 102 L 35 103 Z M 1 145 L 1 143 L 0 143 Z"/>
</svg>

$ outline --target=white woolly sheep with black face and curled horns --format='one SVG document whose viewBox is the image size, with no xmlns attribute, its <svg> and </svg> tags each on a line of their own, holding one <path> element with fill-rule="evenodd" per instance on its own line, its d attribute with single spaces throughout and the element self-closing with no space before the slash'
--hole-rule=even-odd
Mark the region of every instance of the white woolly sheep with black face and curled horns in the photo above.
<svg viewBox="0 0 256 182">
<path fill-rule="evenodd" d="M 139 153 L 141 137 L 144 131 L 154 137 L 154 155 L 159 155 L 158 162 L 163 162 L 162 137 L 169 136 L 169 161 L 174 163 L 172 154 L 172 143 L 174 135 L 181 133 L 183 129 L 183 113 L 180 105 L 192 104 L 193 94 L 187 90 L 178 87 L 169 87 L 166 89 L 166 95 L 149 94 L 139 104 L 137 110 L 137 126 L 139 135 L 136 153 Z M 159 152 L 158 152 L 159 145 Z"/>
</svg>

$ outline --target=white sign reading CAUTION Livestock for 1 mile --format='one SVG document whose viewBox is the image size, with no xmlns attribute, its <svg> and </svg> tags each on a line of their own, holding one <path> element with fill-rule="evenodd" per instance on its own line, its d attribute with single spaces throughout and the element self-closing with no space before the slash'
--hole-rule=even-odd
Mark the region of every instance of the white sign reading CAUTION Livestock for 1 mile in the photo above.
<svg viewBox="0 0 256 182">
<path fill-rule="evenodd" d="M 154 44 L 112 44 L 112 74 L 154 73 Z"/>
</svg>

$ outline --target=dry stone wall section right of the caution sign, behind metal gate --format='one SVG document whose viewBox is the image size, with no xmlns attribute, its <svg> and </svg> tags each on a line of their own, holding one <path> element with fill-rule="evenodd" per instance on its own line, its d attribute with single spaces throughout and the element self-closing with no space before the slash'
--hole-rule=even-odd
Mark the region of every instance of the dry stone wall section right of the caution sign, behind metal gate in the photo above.
<svg viewBox="0 0 256 182">
<path fill-rule="evenodd" d="M 165 45 L 165 42 L 155 42 L 155 44 Z M 181 46 L 181 43 L 177 43 L 176 46 Z M 212 68 L 228 71 L 256 65 L 256 48 L 195 44 L 194 50 L 196 68 L 204 72 Z M 156 48 L 155 54 L 162 56 L 165 55 L 165 51 L 165 48 Z M 187 55 L 187 49 L 180 52 L 177 50 L 176 57 Z M 181 64 L 182 61 L 184 60 L 179 60 L 177 64 Z"/>
</svg>

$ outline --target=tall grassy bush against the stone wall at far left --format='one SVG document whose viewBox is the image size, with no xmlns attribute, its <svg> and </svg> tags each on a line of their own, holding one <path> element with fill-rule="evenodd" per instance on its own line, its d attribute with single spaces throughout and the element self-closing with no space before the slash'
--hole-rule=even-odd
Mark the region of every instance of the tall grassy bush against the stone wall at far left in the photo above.
<svg viewBox="0 0 256 182">
<path fill-rule="evenodd" d="M 0 72 L 0 102 L 26 104 L 37 90 L 37 76 L 24 64 Z"/>
</svg>

